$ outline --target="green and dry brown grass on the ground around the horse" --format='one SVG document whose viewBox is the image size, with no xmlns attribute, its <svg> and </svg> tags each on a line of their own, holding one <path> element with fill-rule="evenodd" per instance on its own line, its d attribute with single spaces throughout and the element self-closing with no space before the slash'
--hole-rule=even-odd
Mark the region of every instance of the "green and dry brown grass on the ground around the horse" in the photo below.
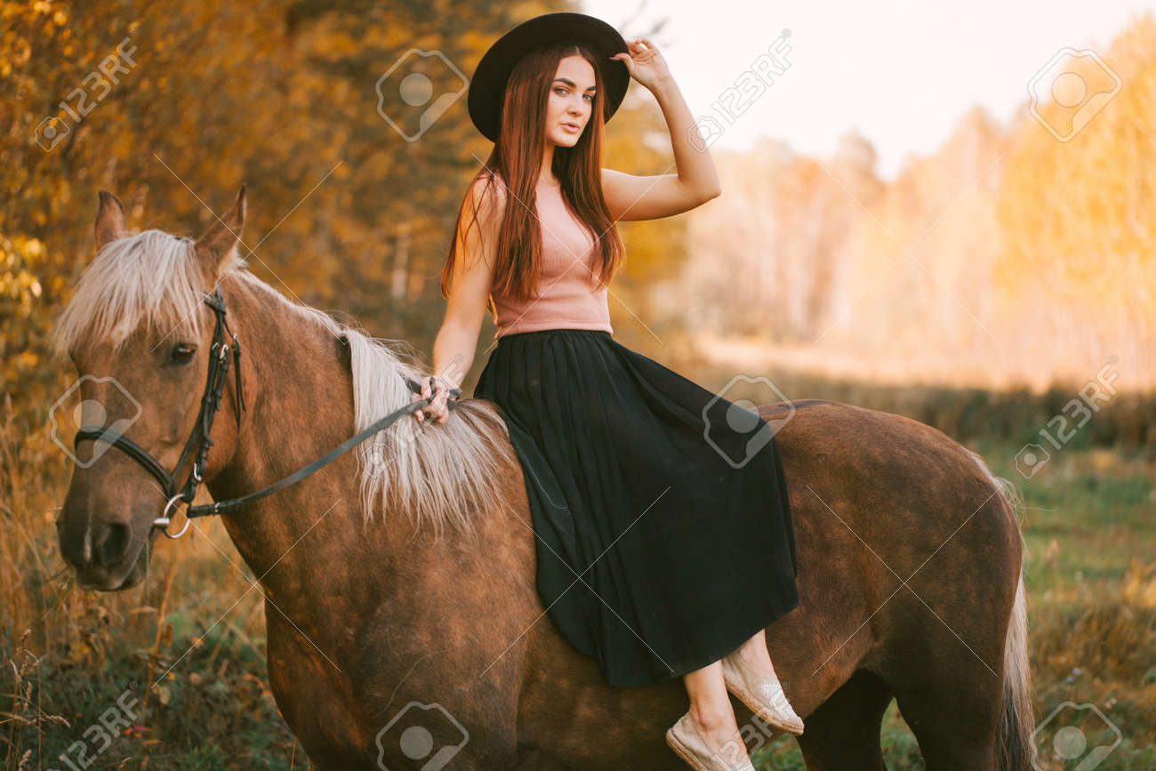
<svg viewBox="0 0 1156 771">
<path fill-rule="evenodd" d="M 89 758 L 88 768 L 306 768 L 267 685 L 260 594 L 245 594 L 252 576 L 220 522 L 198 525 L 187 540 L 160 540 L 144 588 L 80 592 L 52 526 L 67 467 L 46 438 L 17 436 L 12 421 L 0 440 L 0 577 L 10 609 L 0 627 L 5 768 L 62 771 Z M 1037 721 L 1066 702 L 1092 704 L 1111 726 L 1091 710 L 1066 709 L 1051 729 L 1081 728 L 1089 750 L 1114 742 L 1118 729 L 1118 746 L 1097 768 L 1156 768 L 1151 452 L 1073 445 L 1024 480 L 1013 466 L 1022 442 L 968 444 L 1018 484 L 1027 505 Z M 128 727 L 106 737 L 99 718 L 110 709 Z M 890 769 L 922 768 L 894 703 L 883 747 Z M 755 761 L 803 768 L 788 737 Z"/>
</svg>

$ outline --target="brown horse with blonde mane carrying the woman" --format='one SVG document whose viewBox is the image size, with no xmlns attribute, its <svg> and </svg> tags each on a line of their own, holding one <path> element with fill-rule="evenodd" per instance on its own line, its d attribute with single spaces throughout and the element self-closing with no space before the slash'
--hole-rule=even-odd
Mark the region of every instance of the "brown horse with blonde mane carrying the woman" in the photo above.
<svg viewBox="0 0 1156 771">
<path fill-rule="evenodd" d="M 271 489 L 390 410 L 408 415 L 407 378 L 423 375 L 401 347 L 249 272 L 245 201 L 242 186 L 194 242 L 128 231 L 102 191 L 96 257 L 53 332 L 82 395 L 110 414 L 138 401 L 123 435 L 172 477 L 188 469 L 214 501 Z M 220 303 L 207 302 L 212 287 Z M 217 378 L 222 420 L 209 421 L 198 466 L 181 445 L 214 402 L 203 351 L 229 359 L 210 331 L 225 307 L 245 355 L 235 381 Z M 501 409 L 452 403 L 445 424 L 394 421 L 274 495 L 213 512 L 259 577 L 271 688 L 310 762 L 680 768 L 664 740 L 687 709 L 680 679 L 610 687 L 543 620 L 524 472 Z M 1014 485 L 904 416 L 818 399 L 757 410 L 780 424 L 800 592 L 766 644 L 805 719 L 807 768 L 885 769 L 892 699 L 928 769 L 1032 768 Z M 86 590 L 139 584 L 175 505 L 114 444 L 97 440 L 103 454 L 76 464 L 57 521 Z M 751 751 L 778 736 L 734 707 Z"/>
</svg>

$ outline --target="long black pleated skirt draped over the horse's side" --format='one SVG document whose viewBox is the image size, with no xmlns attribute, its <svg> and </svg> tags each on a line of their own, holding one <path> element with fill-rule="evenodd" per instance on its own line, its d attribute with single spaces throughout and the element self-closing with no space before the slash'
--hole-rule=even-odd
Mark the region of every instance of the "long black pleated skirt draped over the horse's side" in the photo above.
<svg viewBox="0 0 1156 771">
<path fill-rule="evenodd" d="M 799 605 L 786 479 L 750 410 L 600 329 L 502 336 L 474 396 L 521 461 L 547 614 L 609 684 L 699 669 Z"/>
</svg>

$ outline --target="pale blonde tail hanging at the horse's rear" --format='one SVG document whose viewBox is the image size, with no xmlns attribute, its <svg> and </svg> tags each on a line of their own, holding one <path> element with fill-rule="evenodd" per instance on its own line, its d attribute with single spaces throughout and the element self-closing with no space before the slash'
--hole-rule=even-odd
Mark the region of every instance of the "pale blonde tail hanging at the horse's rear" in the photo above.
<svg viewBox="0 0 1156 771">
<path fill-rule="evenodd" d="M 1009 517 L 1015 521 L 1020 541 L 1027 548 L 1021 528 L 1024 505 L 1015 484 L 995 476 L 978 454 L 970 450 L 968 452 L 979 464 L 992 487 L 999 491 Z M 1011 617 L 1008 620 L 1008 630 L 1003 638 L 1003 695 L 1000 721 L 995 729 L 995 768 L 999 771 L 1025 771 L 1039 768 L 1036 744 L 1032 741 L 1036 718 L 1031 707 L 1031 668 L 1028 661 L 1028 601 L 1025 594 L 1021 562 L 1015 601 L 1011 605 Z"/>
</svg>

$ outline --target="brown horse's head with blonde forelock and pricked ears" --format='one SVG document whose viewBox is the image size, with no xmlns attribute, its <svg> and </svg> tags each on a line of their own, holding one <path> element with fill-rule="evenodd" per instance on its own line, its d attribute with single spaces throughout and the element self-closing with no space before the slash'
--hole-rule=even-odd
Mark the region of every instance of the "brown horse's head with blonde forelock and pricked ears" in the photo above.
<svg viewBox="0 0 1156 771">
<path fill-rule="evenodd" d="M 129 232 L 117 197 L 101 191 L 99 198 L 96 258 L 53 334 L 57 351 L 80 373 L 73 395 L 82 429 L 71 448 L 73 476 L 57 529 L 77 584 L 118 591 L 144 578 L 154 525 L 175 503 L 162 473 L 183 480 L 198 461 L 198 447 L 186 447 L 198 444 L 192 436 L 203 420 L 206 383 L 210 368 L 220 366 L 207 355 L 220 331 L 218 312 L 206 299 L 243 265 L 237 244 L 245 187 L 195 242 L 161 230 Z M 220 399 L 227 417 L 239 408 L 239 361 L 232 364 Z M 238 423 L 213 424 L 213 452 L 195 469 L 199 477 L 210 479 L 229 461 Z M 157 467 L 150 473 L 140 458 L 119 451 L 118 437 Z"/>
</svg>

